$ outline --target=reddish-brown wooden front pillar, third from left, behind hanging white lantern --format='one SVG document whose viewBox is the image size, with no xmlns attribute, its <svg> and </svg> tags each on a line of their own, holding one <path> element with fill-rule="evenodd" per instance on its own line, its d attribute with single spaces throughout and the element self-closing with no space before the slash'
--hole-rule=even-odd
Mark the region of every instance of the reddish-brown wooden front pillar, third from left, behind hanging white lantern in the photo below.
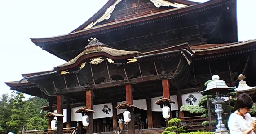
<svg viewBox="0 0 256 134">
<path fill-rule="evenodd" d="M 125 85 L 125 93 L 126 93 L 126 103 L 133 105 L 133 95 L 132 95 L 131 84 Z M 127 110 L 131 112 L 131 121 L 128 124 L 128 134 L 135 134 L 133 108 L 128 108 Z"/>
</svg>

